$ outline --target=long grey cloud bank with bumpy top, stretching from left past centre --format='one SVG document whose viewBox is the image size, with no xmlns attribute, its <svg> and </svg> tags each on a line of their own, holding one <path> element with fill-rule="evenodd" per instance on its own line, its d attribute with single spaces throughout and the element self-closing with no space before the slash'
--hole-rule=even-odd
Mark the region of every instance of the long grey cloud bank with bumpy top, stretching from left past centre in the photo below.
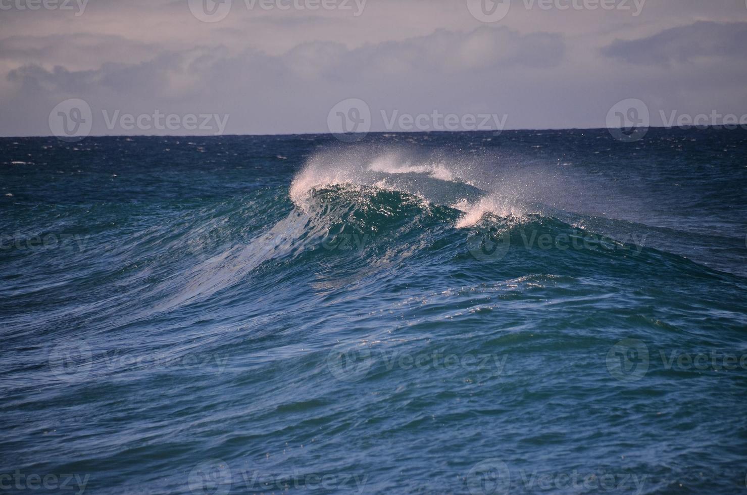
<svg viewBox="0 0 747 495">
<path fill-rule="evenodd" d="M 237 133 L 261 133 L 262 125 L 270 132 L 321 131 L 329 108 L 347 97 L 365 99 L 373 108 L 394 104 L 415 113 L 486 105 L 483 96 L 494 92 L 474 87 L 500 84 L 509 69 L 557 66 L 563 46 L 557 34 L 483 26 L 358 49 L 303 43 L 276 56 L 250 49 L 232 55 L 217 47 L 163 51 L 141 63 L 105 63 L 94 70 L 29 64 L 10 71 L 9 80 L 18 99 L 42 90 L 55 96 L 50 108 L 55 100 L 75 97 L 96 109 L 129 113 L 154 108 L 231 113 L 229 130 Z"/>
</svg>

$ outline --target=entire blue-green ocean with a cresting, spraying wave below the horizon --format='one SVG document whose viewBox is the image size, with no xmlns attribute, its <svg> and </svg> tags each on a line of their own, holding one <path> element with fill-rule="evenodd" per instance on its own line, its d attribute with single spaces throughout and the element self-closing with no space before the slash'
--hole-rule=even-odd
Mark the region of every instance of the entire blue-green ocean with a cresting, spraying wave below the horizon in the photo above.
<svg viewBox="0 0 747 495">
<path fill-rule="evenodd" d="M 746 132 L 190 139 L 0 140 L 0 473 L 744 489 Z"/>
</svg>

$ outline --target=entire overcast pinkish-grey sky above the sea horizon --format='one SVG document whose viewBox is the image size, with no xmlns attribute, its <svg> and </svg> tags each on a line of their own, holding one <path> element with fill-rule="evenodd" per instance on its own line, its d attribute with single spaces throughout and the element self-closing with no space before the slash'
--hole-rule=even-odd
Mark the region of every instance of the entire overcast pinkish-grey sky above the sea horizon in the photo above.
<svg viewBox="0 0 747 495">
<path fill-rule="evenodd" d="M 747 114 L 746 0 L 83 1 L 0 0 L 1 135 L 52 134 L 66 99 L 92 134 L 327 132 L 346 99 L 374 131 L 434 112 L 604 127 L 624 99 L 653 125 Z M 119 120 L 155 110 L 176 128 Z M 217 119 L 187 130 L 190 113 Z"/>
</svg>

